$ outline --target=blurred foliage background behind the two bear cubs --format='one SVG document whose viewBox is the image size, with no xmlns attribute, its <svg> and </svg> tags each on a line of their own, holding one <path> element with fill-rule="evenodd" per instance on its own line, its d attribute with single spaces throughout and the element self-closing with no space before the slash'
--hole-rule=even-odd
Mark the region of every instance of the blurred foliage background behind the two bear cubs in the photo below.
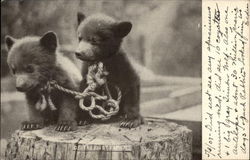
<svg viewBox="0 0 250 160">
<path fill-rule="evenodd" d="M 201 76 L 200 0 L 4 0 L 1 2 L 1 74 L 7 75 L 5 35 L 41 36 L 48 30 L 73 53 L 77 11 L 101 12 L 133 24 L 123 47 L 157 74 Z"/>
</svg>

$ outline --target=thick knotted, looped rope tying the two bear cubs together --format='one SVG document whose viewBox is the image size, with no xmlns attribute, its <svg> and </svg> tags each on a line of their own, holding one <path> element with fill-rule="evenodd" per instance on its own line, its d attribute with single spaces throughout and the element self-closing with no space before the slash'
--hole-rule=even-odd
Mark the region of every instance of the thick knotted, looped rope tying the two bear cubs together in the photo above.
<svg viewBox="0 0 250 160">
<path fill-rule="evenodd" d="M 50 109 L 55 110 L 56 107 L 54 106 L 51 100 L 50 92 L 52 89 L 57 89 L 61 92 L 75 96 L 76 99 L 79 99 L 80 108 L 85 111 L 88 111 L 91 117 L 95 119 L 107 120 L 111 116 L 118 113 L 119 104 L 122 97 L 121 90 L 117 86 L 115 86 L 117 92 L 117 99 L 115 100 L 112 98 L 106 81 L 107 74 L 108 73 L 104 70 L 103 64 L 101 62 L 99 62 L 98 64 L 91 65 L 88 68 L 88 74 L 87 74 L 88 86 L 82 93 L 64 88 L 60 86 L 56 81 L 48 81 L 45 87 L 41 89 L 42 100 L 45 99 Z M 103 87 L 104 95 L 99 95 L 94 92 L 95 89 L 98 87 Z M 47 94 L 44 94 L 44 91 L 46 91 Z M 86 97 L 91 98 L 91 105 L 88 107 L 84 105 L 84 99 Z M 97 105 L 96 100 L 104 101 L 103 105 L 102 106 Z M 44 105 L 41 104 L 40 108 L 37 107 L 37 109 L 40 110 L 44 110 L 45 108 L 46 106 L 44 107 Z M 109 110 L 107 110 L 107 108 L 109 108 Z M 98 109 L 100 111 L 100 114 L 94 114 L 93 113 L 94 109 Z"/>
</svg>

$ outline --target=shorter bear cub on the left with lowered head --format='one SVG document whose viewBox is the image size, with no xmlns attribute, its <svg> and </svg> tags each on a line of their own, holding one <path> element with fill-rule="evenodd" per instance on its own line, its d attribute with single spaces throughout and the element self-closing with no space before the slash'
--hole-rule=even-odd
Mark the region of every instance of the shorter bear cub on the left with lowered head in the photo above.
<svg viewBox="0 0 250 160">
<path fill-rule="evenodd" d="M 16 78 L 17 90 L 24 92 L 27 99 L 29 120 L 22 123 L 23 130 L 40 129 L 46 122 L 57 122 L 57 131 L 71 131 L 77 127 L 78 102 L 74 96 L 53 89 L 50 100 L 55 111 L 48 106 L 48 98 L 40 104 L 43 107 L 38 106 L 42 98 L 41 88 L 48 81 L 54 80 L 65 88 L 79 90 L 82 80 L 76 66 L 57 51 L 57 41 L 54 32 L 47 32 L 42 37 L 22 39 L 6 36 L 9 50 L 7 62 Z"/>
</svg>

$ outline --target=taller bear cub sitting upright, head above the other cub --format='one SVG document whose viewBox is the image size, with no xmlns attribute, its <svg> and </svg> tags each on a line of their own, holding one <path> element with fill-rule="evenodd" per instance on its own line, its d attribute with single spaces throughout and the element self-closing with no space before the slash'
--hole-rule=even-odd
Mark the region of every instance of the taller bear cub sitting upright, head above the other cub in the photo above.
<svg viewBox="0 0 250 160">
<path fill-rule="evenodd" d="M 107 82 L 118 86 L 122 92 L 118 116 L 124 120 L 120 126 L 124 128 L 137 127 L 143 123 L 139 113 L 140 79 L 127 55 L 120 48 L 122 39 L 132 28 L 130 22 L 117 22 L 112 17 L 95 14 L 85 18 L 78 12 L 79 39 L 76 57 L 93 64 L 102 62 L 108 71 Z M 86 69 L 84 67 L 83 69 Z M 87 70 L 83 70 L 85 77 Z"/>
</svg>

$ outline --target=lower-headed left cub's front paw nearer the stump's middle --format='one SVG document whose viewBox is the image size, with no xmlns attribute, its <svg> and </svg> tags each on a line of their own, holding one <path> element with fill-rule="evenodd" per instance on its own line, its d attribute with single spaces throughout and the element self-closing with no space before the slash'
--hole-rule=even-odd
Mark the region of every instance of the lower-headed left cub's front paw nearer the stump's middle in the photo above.
<svg viewBox="0 0 250 160">
<path fill-rule="evenodd" d="M 76 130 L 76 128 L 77 128 L 76 121 L 61 120 L 57 123 L 55 130 L 59 132 L 68 132 L 68 131 L 74 131 Z"/>
</svg>

